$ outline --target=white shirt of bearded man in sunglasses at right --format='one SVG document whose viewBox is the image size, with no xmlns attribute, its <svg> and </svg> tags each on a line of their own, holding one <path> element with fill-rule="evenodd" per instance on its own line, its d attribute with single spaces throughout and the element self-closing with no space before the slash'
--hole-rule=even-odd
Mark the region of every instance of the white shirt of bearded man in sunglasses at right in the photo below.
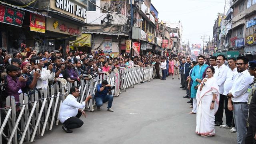
<svg viewBox="0 0 256 144">
<path fill-rule="evenodd" d="M 248 102 L 247 89 L 249 84 L 253 82 L 254 76 L 250 76 L 247 70 L 238 73 L 234 84 L 229 92 L 234 96 L 232 97 L 232 102 Z"/>
</svg>

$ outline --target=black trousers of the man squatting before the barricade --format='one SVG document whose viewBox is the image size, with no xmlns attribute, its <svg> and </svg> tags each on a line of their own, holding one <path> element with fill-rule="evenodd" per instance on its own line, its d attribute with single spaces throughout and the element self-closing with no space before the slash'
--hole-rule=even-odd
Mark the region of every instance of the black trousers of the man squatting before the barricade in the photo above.
<svg viewBox="0 0 256 144">
<path fill-rule="evenodd" d="M 81 115 L 82 115 L 82 112 L 78 111 L 76 116 L 72 116 L 67 120 L 65 120 L 65 122 L 63 123 L 65 125 L 65 128 L 69 128 L 69 129 L 80 128 L 84 124 L 84 122 L 79 119 Z"/>
</svg>

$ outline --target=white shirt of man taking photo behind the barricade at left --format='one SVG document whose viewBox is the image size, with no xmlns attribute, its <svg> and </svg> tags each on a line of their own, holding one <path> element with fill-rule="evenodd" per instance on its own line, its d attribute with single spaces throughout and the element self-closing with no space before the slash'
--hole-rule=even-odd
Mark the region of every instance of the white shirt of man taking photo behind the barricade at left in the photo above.
<svg viewBox="0 0 256 144">
<path fill-rule="evenodd" d="M 40 70 L 40 69 L 37 69 L 37 71 L 38 70 Z M 33 72 L 34 72 L 34 70 L 33 70 Z M 52 72 L 52 74 L 51 74 L 50 70 L 46 70 L 45 68 L 42 68 L 42 71 L 40 72 L 40 74 L 41 74 L 41 76 L 37 80 L 36 88 L 37 89 L 40 89 L 40 88 L 47 89 L 47 86 L 49 83 L 48 80 L 54 80 L 55 73 Z"/>
</svg>

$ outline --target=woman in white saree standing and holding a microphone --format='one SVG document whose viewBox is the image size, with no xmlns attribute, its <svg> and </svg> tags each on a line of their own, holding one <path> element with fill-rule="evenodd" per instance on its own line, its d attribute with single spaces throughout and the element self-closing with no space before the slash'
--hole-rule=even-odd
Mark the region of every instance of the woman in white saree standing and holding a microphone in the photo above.
<svg viewBox="0 0 256 144">
<path fill-rule="evenodd" d="M 213 74 L 213 67 L 206 70 L 208 77 L 202 80 L 196 93 L 196 133 L 205 137 L 215 135 L 214 115 L 219 107 L 219 86 Z"/>
</svg>

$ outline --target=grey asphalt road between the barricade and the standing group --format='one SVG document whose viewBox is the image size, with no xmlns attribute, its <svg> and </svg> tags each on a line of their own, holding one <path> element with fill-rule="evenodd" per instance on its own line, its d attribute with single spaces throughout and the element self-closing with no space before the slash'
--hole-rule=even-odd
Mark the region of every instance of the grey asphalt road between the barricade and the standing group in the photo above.
<svg viewBox="0 0 256 144">
<path fill-rule="evenodd" d="M 84 125 L 73 133 L 60 124 L 36 136 L 34 144 L 235 144 L 229 129 L 216 127 L 216 136 L 206 138 L 195 133 L 196 115 L 188 114 L 192 108 L 179 87 L 180 80 L 171 77 L 137 84 L 114 98 L 114 112 L 104 104 L 86 112 Z"/>
</svg>

